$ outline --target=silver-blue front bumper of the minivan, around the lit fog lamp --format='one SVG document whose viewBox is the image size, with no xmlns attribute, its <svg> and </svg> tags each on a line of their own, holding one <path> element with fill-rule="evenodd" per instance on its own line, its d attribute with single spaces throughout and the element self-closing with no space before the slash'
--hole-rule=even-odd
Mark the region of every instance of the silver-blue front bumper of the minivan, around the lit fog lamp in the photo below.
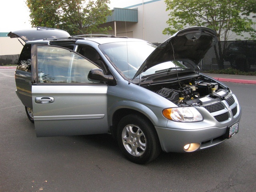
<svg viewBox="0 0 256 192">
<path fill-rule="evenodd" d="M 155 126 L 162 150 L 164 152 L 186 152 L 184 146 L 191 143 L 199 144 L 197 150 L 202 150 L 222 143 L 227 128 L 239 122 L 242 110 L 237 105 L 238 112 L 228 120 L 218 122 L 210 113 L 204 114 L 201 122 L 173 122 L 168 121 L 167 128 Z M 204 109 L 202 109 L 201 113 Z M 196 151 L 197 151 L 196 150 Z"/>
</svg>

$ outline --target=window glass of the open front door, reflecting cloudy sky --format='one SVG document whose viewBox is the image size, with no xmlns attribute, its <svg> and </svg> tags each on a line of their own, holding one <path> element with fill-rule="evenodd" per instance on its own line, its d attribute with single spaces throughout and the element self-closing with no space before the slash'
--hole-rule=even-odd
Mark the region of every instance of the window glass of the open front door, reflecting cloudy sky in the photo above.
<svg viewBox="0 0 256 192">
<path fill-rule="evenodd" d="M 88 73 L 98 67 L 75 52 L 56 46 L 38 46 L 37 51 L 38 82 L 94 83 Z"/>
</svg>

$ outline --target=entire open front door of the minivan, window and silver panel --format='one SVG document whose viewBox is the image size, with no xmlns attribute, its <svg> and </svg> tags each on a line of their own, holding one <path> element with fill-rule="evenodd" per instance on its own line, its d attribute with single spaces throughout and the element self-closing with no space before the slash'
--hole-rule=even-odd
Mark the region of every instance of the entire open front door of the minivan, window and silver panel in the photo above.
<svg viewBox="0 0 256 192">
<path fill-rule="evenodd" d="M 108 86 L 87 78 L 98 67 L 64 48 L 38 46 L 37 51 L 38 83 L 32 85 L 36 136 L 107 133 Z"/>
</svg>

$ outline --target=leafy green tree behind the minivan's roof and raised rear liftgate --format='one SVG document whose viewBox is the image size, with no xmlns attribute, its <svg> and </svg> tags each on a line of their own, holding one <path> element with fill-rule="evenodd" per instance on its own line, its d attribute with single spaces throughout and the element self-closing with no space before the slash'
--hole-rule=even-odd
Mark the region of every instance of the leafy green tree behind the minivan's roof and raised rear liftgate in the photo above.
<svg viewBox="0 0 256 192">
<path fill-rule="evenodd" d="M 106 33 L 100 28 L 111 14 L 109 0 L 26 0 L 32 26 L 66 30 L 71 35 Z"/>
</svg>

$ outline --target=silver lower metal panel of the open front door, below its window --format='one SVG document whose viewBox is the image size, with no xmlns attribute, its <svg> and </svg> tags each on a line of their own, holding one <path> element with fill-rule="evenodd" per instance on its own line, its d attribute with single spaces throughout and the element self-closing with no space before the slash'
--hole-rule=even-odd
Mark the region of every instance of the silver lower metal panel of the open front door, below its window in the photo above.
<svg viewBox="0 0 256 192">
<path fill-rule="evenodd" d="M 67 136 L 108 132 L 107 86 L 32 86 L 36 135 Z M 36 98 L 52 103 L 36 103 Z"/>
</svg>

